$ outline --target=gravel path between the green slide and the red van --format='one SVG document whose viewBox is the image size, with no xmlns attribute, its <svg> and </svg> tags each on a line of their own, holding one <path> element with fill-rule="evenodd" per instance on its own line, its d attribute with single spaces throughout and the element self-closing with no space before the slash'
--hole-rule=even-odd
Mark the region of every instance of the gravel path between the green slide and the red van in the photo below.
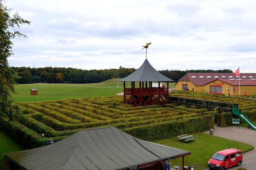
<svg viewBox="0 0 256 170">
<path fill-rule="evenodd" d="M 209 131 L 203 132 L 209 134 Z M 214 136 L 219 136 L 231 140 L 236 140 L 243 143 L 248 143 L 256 148 L 256 131 L 245 127 L 229 126 L 220 128 L 215 124 Z M 243 163 L 240 167 L 248 170 L 256 169 L 256 149 L 243 153 Z M 234 166 L 228 170 L 236 170 L 238 167 Z M 209 169 L 209 168 L 208 168 Z"/>
</svg>

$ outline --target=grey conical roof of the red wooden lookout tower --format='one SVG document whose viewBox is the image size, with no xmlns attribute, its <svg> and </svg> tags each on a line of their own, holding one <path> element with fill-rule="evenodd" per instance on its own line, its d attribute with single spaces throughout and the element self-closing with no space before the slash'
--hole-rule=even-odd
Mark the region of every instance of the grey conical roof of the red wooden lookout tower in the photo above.
<svg viewBox="0 0 256 170">
<path fill-rule="evenodd" d="M 154 69 L 151 64 L 147 61 L 134 71 L 132 74 L 128 75 L 119 82 L 173 82 L 174 80 L 165 77 Z"/>
</svg>

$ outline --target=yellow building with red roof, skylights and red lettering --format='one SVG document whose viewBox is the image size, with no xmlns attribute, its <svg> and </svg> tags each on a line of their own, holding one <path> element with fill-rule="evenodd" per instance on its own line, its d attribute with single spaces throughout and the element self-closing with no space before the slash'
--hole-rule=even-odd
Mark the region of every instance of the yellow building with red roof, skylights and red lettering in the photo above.
<svg viewBox="0 0 256 170">
<path fill-rule="evenodd" d="M 193 90 L 210 94 L 256 95 L 256 73 L 187 73 L 175 84 L 176 90 Z"/>
</svg>

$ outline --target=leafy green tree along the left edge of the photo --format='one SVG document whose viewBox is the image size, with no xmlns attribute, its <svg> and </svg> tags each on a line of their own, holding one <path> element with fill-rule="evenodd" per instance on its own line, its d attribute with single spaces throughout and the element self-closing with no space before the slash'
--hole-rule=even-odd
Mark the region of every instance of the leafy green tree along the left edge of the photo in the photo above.
<svg viewBox="0 0 256 170">
<path fill-rule="evenodd" d="M 11 17 L 10 12 L 11 9 L 4 6 L 3 1 L 0 0 L 0 117 L 8 117 L 12 120 L 19 111 L 18 106 L 13 104 L 11 96 L 12 93 L 15 94 L 14 84 L 18 76 L 9 67 L 7 59 L 13 54 L 11 39 L 27 37 L 16 29 L 20 27 L 20 24 L 29 24 L 30 21 L 22 19 L 18 13 Z"/>
</svg>

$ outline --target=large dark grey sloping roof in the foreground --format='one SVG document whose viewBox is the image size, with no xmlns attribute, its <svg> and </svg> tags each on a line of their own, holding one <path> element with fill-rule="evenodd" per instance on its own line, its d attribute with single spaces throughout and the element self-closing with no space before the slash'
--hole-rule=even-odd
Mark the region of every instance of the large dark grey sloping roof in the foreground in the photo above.
<svg viewBox="0 0 256 170">
<path fill-rule="evenodd" d="M 52 145 L 4 155 L 27 169 L 113 170 L 189 153 L 106 127 L 79 131 Z"/>
</svg>

